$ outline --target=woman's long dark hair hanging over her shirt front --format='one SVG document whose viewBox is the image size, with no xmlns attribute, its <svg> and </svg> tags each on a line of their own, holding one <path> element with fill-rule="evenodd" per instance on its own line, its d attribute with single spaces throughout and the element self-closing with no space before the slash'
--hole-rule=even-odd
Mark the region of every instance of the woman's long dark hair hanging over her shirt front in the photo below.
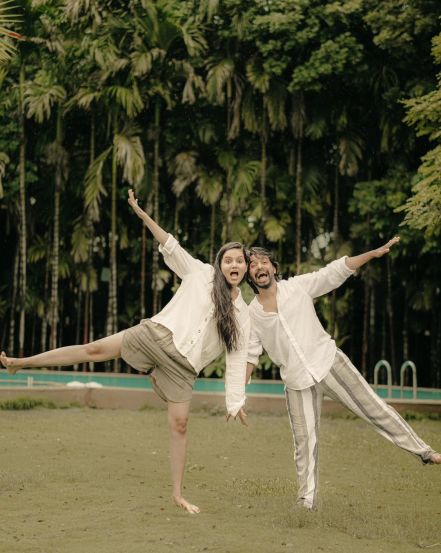
<svg viewBox="0 0 441 553">
<path fill-rule="evenodd" d="M 213 290 L 211 299 L 214 303 L 214 320 L 221 343 L 228 352 L 237 349 L 239 345 L 239 329 L 234 314 L 234 304 L 231 299 L 231 285 L 225 280 L 221 270 L 222 259 L 228 250 L 242 250 L 245 262 L 248 265 L 248 255 L 240 242 L 228 242 L 217 252 L 214 260 Z"/>
</svg>

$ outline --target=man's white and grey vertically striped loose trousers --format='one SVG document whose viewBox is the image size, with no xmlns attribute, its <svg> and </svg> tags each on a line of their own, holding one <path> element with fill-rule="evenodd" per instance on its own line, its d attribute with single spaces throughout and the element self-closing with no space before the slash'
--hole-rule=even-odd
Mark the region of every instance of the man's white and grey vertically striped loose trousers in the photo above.
<svg viewBox="0 0 441 553">
<path fill-rule="evenodd" d="M 327 376 L 305 390 L 286 389 L 286 403 L 294 437 L 295 462 L 299 483 L 297 502 L 307 508 L 317 503 L 318 433 L 323 395 L 339 401 L 374 429 L 409 451 L 423 463 L 434 453 L 407 422 L 377 396 L 349 358 L 337 350 Z"/>
</svg>

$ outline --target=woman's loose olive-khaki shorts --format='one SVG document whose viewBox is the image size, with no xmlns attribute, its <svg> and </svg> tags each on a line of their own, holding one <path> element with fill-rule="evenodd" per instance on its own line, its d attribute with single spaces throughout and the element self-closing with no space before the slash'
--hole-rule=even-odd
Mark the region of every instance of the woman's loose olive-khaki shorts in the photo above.
<svg viewBox="0 0 441 553">
<path fill-rule="evenodd" d="M 164 401 L 190 401 L 197 374 L 188 359 L 176 349 L 172 332 L 151 319 L 124 332 L 121 357 L 134 369 L 146 372 Z"/>
</svg>

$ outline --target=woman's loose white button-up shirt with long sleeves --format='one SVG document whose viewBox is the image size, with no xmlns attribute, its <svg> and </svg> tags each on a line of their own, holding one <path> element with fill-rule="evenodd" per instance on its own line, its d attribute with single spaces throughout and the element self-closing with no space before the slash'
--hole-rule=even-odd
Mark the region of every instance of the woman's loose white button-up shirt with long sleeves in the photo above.
<svg viewBox="0 0 441 553">
<path fill-rule="evenodd" d="M 214 269 L 192 257 L 171 234 L 159 246 L 164 261 L 181 279 L 182 283 L 164 309 L 152 317 L 173 333 L 176 349 L 199 372 L 223 351 L 216 323 L 213 319 L 214 304 L 211 299 Z M 226 353 L 225 392 L 227 411 L 237 415 L 245 403 L 245 378 L 250 333 L 248 306 L 239 295 L 234 300 L 239 328 L 239 348 Z"/>
</svg>

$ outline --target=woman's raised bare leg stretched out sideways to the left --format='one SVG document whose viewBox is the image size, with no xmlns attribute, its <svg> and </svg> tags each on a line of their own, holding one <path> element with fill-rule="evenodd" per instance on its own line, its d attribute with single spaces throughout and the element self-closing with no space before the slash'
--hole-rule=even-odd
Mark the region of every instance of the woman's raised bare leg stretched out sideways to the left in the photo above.
<svg viewBox="0 0 441 553">
<path fill-rule="evenodd" d="M 1 364 L 9 373 L 16 373 L 19 369 L 29 367 L 58 367 L 87 363 L 109 361 L 121 356 L 121 343 L 124 330 L 112 336 L 101 338 L 95 342 L 80 346 L 65 346 L 33 355 L 32 357 L 7 357 L 2 351 Z"/>
</svg>

